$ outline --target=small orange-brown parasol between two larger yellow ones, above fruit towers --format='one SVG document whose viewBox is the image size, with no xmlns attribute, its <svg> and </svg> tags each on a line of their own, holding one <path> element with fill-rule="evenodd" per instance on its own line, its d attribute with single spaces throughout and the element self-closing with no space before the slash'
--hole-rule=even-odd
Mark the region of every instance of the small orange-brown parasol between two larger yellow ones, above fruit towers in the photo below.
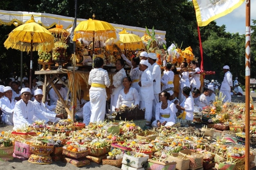
<svg viewBox="0 0 256 170">
<path fill-rule="evenodd" d="M 66 41 L 67 37 L 70 35 L 70 33 L 67 30 L 63 29 L 63 26 L 60 25 L 60 22 L 55 26 L 56 26 L 55 28 L 51 28 L 51 29 L 48 30 L 53 35 L 53 37 L 55 38 L 54 42 L 57 42 L 57 41 L 64 42 L 64 41 Z"/>
</svg>

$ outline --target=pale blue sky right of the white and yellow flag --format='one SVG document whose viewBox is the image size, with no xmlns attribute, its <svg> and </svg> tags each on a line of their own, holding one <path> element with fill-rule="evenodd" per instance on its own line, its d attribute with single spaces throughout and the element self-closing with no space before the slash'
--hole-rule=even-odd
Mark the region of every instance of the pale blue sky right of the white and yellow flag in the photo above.
<svg viewBox="0 0 256 170">
<path fill-rule="evenodd" d="M 226 31 L 230 33 L 245 34 L 245 1 L 231 13 L 215 20 L 217 25 L 225 25 Z M 256 20 L 256 0 L 250 0 L 250 20 Z"/>
</svg>

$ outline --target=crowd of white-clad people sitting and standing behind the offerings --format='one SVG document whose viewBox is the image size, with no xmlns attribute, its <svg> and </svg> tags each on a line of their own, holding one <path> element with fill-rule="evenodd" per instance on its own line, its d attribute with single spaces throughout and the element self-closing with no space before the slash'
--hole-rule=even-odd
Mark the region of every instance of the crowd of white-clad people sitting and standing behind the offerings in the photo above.
<svg viewBox="0 0 256 170">
<path fill-rule="evenodd" d="M 172 71 L 174 65 L 166 63 L 163 74 L 157 65 L 155 53 L 141 52 L 139 57 L 128 60 L 119 50 L 121 59 L 116 60 L 116 73 L 112 83 L 108 71 L 103 69 L 104 61 L 100 57 L 94 59 L 94 68 L 90 71 L 88 84 L 90 85 L 90 101 L 84 100 L 84 91 L 77 95 L 76 120 L 83 121 L 86 125 L 90 122 L 104 121 L 108 107 L 106 107 L 107 92 L 111 93 L 110 113 L 120 111 L 121 107 L 138 107 L 145 109 L 145 120 L 148 127 L 172 126 L 177 122 L 181 125 L 189 125 L 193 121 L 194 108 L 210 105 L 215 96 L 221 94 L 224 102 L 231 101 L 231 90 L 234 94 L 242 95 L 238 82 L 232 81 L 229 66 L 223 67 L 224 79 L 218 89 L 218 83 L 212 80 L 201 87 L 200 68 L 197 62 L 182 62 L 179 77 L 180 87 L 178 97 L 174 94 L 174 77 Z M 129 75 L 126 74 L 125 62 L 131 66 Z M 7 125 L 14 125 L 14 129 L 23 125 L 31 124 L 37 119 L 45 120 L 46 123 L 58 122 L 63 118 L 62 114 L 56 114 L 54 109 L 58 102 L 58 95 L 53 88 L 46 96 L 46 103 L 42 102 L 43 82 L 32 80 L 32 89 L 28 88 L 27 79 L 23 78 L 20 87 L 20 78 L 7 79 L 5 85 L 0 86 L 0 109 L 1 120 Z M 68 89 L 62 82 L 56 80 L 55 87 L 64 100 L 69 99 Z M 237 80 L 237 78 L 236 78 Z M 219 93 L 221 92 L 221 93 Z"/>
</svg>

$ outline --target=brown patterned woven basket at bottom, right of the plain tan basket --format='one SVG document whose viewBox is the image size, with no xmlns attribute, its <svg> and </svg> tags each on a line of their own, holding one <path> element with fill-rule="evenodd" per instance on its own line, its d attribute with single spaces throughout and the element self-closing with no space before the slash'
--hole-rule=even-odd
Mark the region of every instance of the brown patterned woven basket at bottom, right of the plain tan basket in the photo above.
<svg viewBox="0 0 256 170">
<path fill-rule="evenodd" d="M 192 150 L 180 150 L 179 152 L 183 156 L 187 156 L 190 160 L 189 169 L 196 170 L 203 168 L 204 155 L 201 153 L 193 152 Z"/>
</svg>

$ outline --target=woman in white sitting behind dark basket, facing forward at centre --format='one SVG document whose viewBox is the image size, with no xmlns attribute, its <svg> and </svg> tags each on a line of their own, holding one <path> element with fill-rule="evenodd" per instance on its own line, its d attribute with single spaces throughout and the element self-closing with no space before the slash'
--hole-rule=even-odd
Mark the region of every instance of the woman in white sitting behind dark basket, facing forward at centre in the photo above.
<svg viewBox="0 0 256 170">
<path fill-rule="evenodd" d="M 122 106 L 128 106 L 131 108 L 134 105 L 138 107 L 140 104 L 140 96 L 137 90 L 131 87 L 131 78 L 125 77 L 122 84 L 125 88 L 119 92 L 116 111 L 119 111 L 119 108 Z"/>
</svg>

